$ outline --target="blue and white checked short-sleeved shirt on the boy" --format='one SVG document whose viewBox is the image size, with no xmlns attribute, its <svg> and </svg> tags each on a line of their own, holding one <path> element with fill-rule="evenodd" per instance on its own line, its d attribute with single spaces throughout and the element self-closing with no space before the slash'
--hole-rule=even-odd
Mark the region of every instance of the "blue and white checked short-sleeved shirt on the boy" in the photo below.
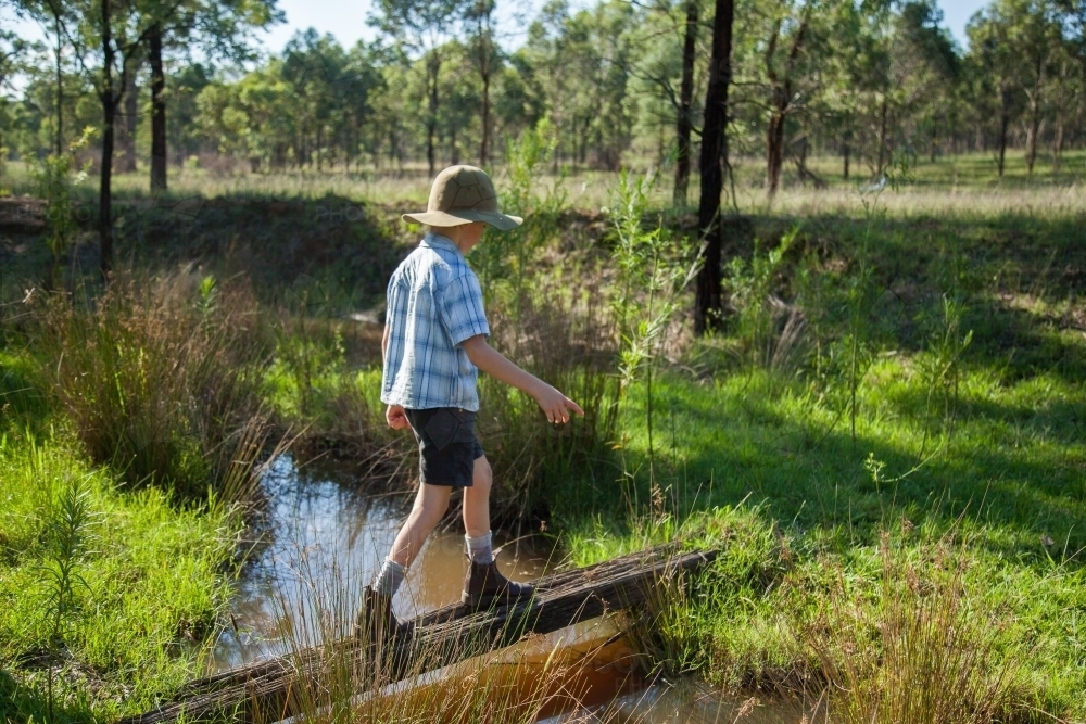
<svg viewBox="0 0 1086 724">
<path fill-rule="evenodd" d="M 479 410 L 479 370 L 460 343 L 490 334 L 475 271 L 449 239 L 428 233 L 389 281 L 381 402 Z"/>
</svg>

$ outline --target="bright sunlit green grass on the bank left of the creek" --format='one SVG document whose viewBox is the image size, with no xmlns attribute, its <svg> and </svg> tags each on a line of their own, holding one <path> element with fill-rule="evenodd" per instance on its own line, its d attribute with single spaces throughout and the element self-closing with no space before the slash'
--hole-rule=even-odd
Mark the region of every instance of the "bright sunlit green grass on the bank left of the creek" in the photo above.
<svg viewBox="0 0 1086 724">
<path fill-rule="evenodd" d="M 195 674 L 230 595 L 239 522 L 159 488 L 126 491 L 89 465 L 63 419 L 41 417 L 25 357 L 0 352 L 0 719 L 47 719 L 50 666 L 59 721 L 139 713 Z M 52 639 L 48 522 L 74 482 L 90 520 L 74 608 Z"/>
</svg>

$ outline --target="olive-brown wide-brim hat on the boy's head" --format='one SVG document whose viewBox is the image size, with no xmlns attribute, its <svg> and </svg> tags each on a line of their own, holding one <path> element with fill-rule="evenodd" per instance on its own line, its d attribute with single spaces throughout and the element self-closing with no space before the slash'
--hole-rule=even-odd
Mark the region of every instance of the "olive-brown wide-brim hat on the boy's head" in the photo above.
<svg viewBox="0 0 1086 724">
<path fill-rule="evenodd" d="M 450 166 L 433 179 L 426 211 L 404 214 L 405 221 L 430 226 L 460 226 L 485 221 L 495 229 L 508 231 L 525 219 L 503 214 L 497 208 L 497 193 L 487 172 L 475 166 Z"/>
</svg>

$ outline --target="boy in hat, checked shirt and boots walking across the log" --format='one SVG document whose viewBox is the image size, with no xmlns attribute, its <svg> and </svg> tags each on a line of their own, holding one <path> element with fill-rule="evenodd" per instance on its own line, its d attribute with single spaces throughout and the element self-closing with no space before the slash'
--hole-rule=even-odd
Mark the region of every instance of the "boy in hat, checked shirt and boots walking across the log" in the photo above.
<svg viewBox="0 0 1086 724">
<path fill-rule="evenodd" d="M 490 327 L 479 280 L 464 256 L 483 228 L 516 228 L 522 219 L 502 214 L 490 177 L 473 166 L 452 166 L 430 187 L 427 211 L 404 220 L 430 232 L 392 275 L 382 351 L 381 401 L 393 430 L 411 428 L 418 441 L 419 488 L 392 550 L 366 589 L 370 634 L 403 633 L 392 597 L 426 537 L 449 508 L 453 488 L 464 491 L 464 529 L 470 566 L 462 601 L 472 609 L 530 598 L 530 585 L 503 576 L 494 563 L 490 531 L 490 465 L 475 434 L 478 370 L 531 395 L 547 421 L 565 424 L 577 403 L 523 371 L 487 344 Z"/>
</svg>

